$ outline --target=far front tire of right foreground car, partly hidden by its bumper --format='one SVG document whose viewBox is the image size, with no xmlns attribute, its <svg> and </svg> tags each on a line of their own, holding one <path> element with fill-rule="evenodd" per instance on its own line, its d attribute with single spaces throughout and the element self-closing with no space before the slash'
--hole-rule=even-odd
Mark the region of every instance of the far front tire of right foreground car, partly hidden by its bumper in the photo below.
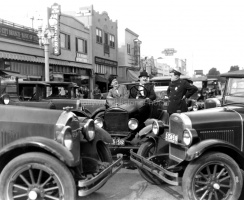
<svg viewBox="0 0 244 200">
<path fill-rule="evenodd" d="M 149 140 L 144 142 L 138 149 L 137 154 L 143 156 L 144 158 L 149 158 L 154 154 L 155 151 L 155 142 Z M 145 169 L 138 168 L 140 175 L 149 183 L 154 185 L 161 185 L 164 183 L 161 179 L 159 179 L 154 174 L 148 172 Z"/>
</svg>

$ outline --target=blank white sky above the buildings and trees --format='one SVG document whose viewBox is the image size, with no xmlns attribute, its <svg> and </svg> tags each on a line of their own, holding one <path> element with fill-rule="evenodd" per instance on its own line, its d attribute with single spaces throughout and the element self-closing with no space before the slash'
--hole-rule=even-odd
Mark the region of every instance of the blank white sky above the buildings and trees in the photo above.
<svg viewBox="0 0 244 200">
<path fill-rule="evenodd" d="M 0 18 L 31 27 L 31 16 L 43 15 L 53 3 L 61 11 L 90 5 L 106 11 L 118 26 L 139 35 L 142 56 L 161 57 L 159 62 L 169 59 L 164 49 L 174 48 L 191 72 L 244 69 L 243 0 L 12 0 L 1 2 Z"/>
</svg>

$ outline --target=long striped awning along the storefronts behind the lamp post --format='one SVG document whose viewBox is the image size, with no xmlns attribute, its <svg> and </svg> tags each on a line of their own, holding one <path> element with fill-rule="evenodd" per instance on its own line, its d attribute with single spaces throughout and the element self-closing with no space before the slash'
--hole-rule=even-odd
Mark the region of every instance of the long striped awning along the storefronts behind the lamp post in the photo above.
<svg viewBox="0 0 244 200">
<path fill-rule="evenodd" d="M 24 55 L 18 53 L 10 53 L 10 52 L 2 52 L 0 51 L 0 58 L 10 59 L 10 60 L 20 60 L 27 62 L 36 62 L 36 63 L 45 63 L 45 58 L 31 55 Z M 93 69 L 91 64 L 84 64 L 72 61 L 64 61 L 64 60 L 56 60 L 49 58 L 49 64 L 52 65 L 61 65 L 61 66 L 70 66 L 70 67 L 78 67 L 85 69 Z"/>
</svg>

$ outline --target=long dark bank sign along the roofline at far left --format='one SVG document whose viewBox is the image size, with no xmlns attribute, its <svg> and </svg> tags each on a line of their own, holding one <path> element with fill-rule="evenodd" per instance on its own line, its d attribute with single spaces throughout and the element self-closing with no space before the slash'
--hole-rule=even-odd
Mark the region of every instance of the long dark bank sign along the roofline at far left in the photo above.
<svg viewBox="0 0 244 200">
<path fill-rule="evenodd" d="M 2 21 L 2 23 L 0 24 L 0 37 L 5 37 L 12 40 L 18 40 L 33 44 L 39 44 L 37 33 L 33 31 L 28 31 L 27 27 L 23 26 L 23 28 L 21 29 L 3 23 L 4 21 Z"/>
</svg>

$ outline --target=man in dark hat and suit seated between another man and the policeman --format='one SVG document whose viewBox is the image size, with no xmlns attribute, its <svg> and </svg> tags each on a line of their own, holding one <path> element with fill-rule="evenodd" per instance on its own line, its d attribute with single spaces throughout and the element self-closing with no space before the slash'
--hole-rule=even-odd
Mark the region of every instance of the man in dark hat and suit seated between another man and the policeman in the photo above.
<svg viewBox="0 0 244 200">
<path fill-rule="evenodd" d="M 150 100 L 156 99 L 156 94 L 154 92 L 153 85 L 148 83 L 148 73 L 146 71 L 142 71 L 139 75 L 139 86 L 138 86 L 138 95 L 136 98 L 146 98 Z"/>
</svg>

